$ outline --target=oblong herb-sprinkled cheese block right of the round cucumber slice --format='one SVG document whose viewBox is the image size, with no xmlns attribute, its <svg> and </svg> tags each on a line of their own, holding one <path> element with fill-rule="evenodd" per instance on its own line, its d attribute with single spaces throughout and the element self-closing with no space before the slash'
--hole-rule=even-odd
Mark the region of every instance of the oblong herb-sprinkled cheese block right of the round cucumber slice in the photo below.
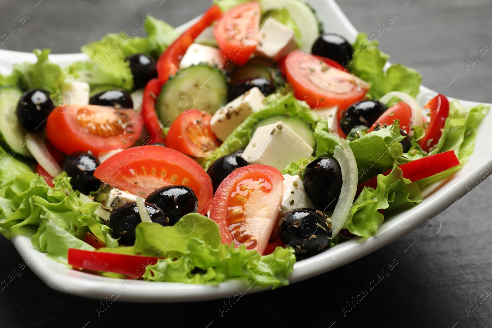
<svg viewBox="0 0 492 328">
<path fill-rule="evenodd" d="M 210 127 L 217 137 L 224 141 L 248 116 L 263 108 L 265 96 L 257 87 L 249 89 L 227 105 L 219 108 L 212 119 Z"/>
</svg>

